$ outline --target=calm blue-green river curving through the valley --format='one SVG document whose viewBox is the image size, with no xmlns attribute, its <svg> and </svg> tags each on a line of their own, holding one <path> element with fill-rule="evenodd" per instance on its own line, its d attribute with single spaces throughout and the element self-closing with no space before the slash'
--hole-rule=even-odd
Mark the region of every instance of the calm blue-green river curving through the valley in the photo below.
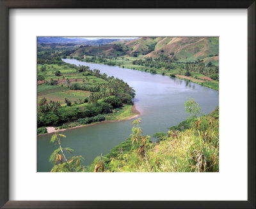
<svg viewBox="0 0 256 209">
<path fill-rule="evenodd" d="M 152 75 L 143 71 L 92 64 L 75 59 L 63 61 L 77 66 L 89 66 L 99 69 L 100 73 L 115 76 L 127 82 L 136 90 L 134 105 L 141 113 L 143 134 L 167 132 L 167 127 L 176 126 L 188 117 L 184 102 L 188 97 L 195 98 L 203 113 L 210 113 L 219 104 L 219 92 L 196 83 L 170 78 L 169 76 Z M 131 134 L 132 120 L 109 122 L 95 126 L 80 127 L 61 131 L 67 138 L 61 138 L 62 147 L 74 149 L 74 155 L 83 155 L 84 164 L 92 163 L 97 155 L 108 154 L 111 148 L 125 141 Z M 50 171 L 52 165 L 49 156 L 57 147 L 49 143 L 52 134 L 38 136 L 37 169 L 39 172 Z"/>
</svg>

